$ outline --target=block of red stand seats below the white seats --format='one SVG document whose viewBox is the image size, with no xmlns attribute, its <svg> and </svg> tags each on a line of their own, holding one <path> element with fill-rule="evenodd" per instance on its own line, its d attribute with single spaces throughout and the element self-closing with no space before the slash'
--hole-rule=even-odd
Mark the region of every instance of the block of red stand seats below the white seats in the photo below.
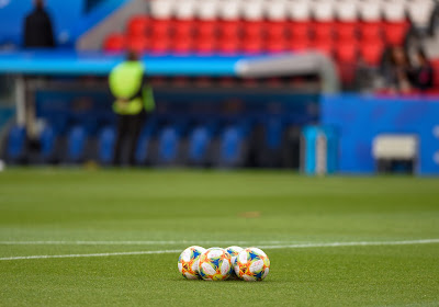
<svg viewBox="0 0 439 307">
<path fill-rule="evenodd" d="M 408 24 L 267 21 L 182 21 L 134 16 L 127 33 L 110 35 L 104 49 L 139 53 L 278 53 L 317 49 L 337 60 L 359 54 L 376 65 L 386 45 L 402 45 Z M 344 47 L 346 46 L 346 47 Z M 351 54 L 351 60 L 345 54 Z M 348 56 L 349 57 L 349 56 Z"/>
</svg>

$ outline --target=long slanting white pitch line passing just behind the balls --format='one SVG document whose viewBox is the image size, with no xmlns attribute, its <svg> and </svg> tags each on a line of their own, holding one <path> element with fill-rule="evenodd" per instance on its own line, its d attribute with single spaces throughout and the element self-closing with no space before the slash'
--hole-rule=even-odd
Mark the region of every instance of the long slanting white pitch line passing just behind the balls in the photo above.
<svg viewBox="0 0 439 307">
<path fill-rule="evenodd" d="M 261 246 L 263 249 L 300 249 L 300 248 L 337 248 L 337 247 L 365 247 L 365 246 L 412 246 L 439 243 L 439 239 L 406 240 L 406 241 L 363 241 L 363 242 L 328 242 L 328 243 L 303 243 L 285 246 Z M 157 250 L 157 251 L 127 251 L 83 254 L 46 254 L 0 258 L 0 261 L 30 260 L 30 259 L 54 259 L 54 258 L 87 258 L 87 257 L 111 257 L 111 255 L 136 255 L 136 254 L 162 254 L 179 253 L 181 250 Z"/>
</svg>

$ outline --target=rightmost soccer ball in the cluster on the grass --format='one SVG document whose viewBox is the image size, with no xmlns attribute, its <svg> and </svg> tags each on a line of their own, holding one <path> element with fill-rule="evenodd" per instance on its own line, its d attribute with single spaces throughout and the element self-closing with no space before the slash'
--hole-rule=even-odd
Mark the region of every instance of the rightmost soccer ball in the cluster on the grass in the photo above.
<svg viewBox="0 0 439 307">
<path fill-rule="evenodd" d="M 236 257 L 234 269 L 236 275 L 244 281 L 262 281 L 270 271 L 270 260 L 262 250 L 248 248 Z"/>
</svg>

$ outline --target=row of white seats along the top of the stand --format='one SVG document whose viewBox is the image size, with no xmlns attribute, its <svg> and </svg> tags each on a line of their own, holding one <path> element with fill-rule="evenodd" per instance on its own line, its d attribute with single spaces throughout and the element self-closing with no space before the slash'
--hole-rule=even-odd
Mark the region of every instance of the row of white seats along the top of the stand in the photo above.
<svg viewBox="0 0 439 307">
<path fill-rule="evenodd" d="M 150 0 L 157 19 L 403 21 L 426 24 L 434 0 Z"/>
</svg>

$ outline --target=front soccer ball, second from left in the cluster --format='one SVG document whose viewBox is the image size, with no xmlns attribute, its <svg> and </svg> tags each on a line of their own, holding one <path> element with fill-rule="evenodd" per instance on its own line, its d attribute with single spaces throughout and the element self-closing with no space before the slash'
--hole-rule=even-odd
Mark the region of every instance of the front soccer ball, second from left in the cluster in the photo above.
<svg viewBox="0 0 439 307">
<path fill-rule="evenodd" d="M 210 248 L 200 255 L 200 275 L 205 281 L 224 281 L 232 274 L 232 258 L 225 249 Z"/>
</svg>

